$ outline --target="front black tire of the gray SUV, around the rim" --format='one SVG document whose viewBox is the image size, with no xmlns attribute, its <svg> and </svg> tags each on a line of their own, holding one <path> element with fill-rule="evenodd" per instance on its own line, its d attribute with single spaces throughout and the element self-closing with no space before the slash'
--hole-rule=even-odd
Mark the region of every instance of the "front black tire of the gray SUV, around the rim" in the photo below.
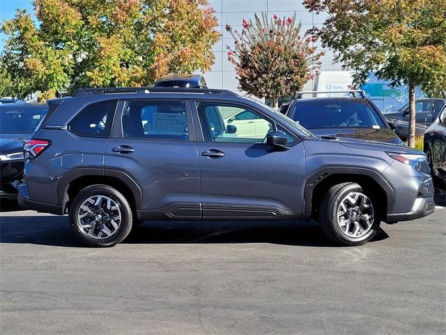
<svg viewBox="0 0 446 335">
<path fill-rule="evenodd" d="M 337 221 L 337 211 L 341 201 L 352 192 L 366 195 L 374 209 L 374 220 L 371 224 L 371 228 L 369 228 L 369 231 L 361 237 L 348 236 L 348 234 L 341 229 Z M 377 215 L 378 211 L 376 211 L 376 206 L 374 205 L 374 198 L 364 192 L 360 185 L 355 183 L 344 183 L 332 186 L 323 198 L 318 213 L 319 223 L 322 226 L 325 236 L 335 244 L 341 246 L 360 246 L 373 239 L 376 232 L 378 232 L 380 225 L 380 220 Z"/>
</svg>

